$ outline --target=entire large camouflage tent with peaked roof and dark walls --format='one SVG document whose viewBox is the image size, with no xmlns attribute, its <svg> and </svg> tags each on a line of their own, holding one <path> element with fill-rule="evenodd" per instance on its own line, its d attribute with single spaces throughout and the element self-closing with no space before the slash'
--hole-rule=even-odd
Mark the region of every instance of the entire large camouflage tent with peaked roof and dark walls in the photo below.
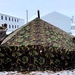
<svg viewBox="0 0 75 75">
<path fill-rule="evenodd" d="M 39 19 L 11 33 L 0 46 L 0 70 L 75 68 L 73 36 Z"/>
</svg>

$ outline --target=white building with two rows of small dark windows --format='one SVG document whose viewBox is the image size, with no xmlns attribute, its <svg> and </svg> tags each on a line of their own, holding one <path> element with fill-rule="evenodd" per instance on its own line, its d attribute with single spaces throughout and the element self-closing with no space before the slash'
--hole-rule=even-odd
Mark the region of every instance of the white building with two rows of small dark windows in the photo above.
<svg viewBox="0 0 75 75">
<path fill-rule="evenodd" d="M 7 24 L 7 34 L 24 25 L 24 20 L 21 18 L 5 15 L 0 13 L 0 26 Z"/>
</svg>

